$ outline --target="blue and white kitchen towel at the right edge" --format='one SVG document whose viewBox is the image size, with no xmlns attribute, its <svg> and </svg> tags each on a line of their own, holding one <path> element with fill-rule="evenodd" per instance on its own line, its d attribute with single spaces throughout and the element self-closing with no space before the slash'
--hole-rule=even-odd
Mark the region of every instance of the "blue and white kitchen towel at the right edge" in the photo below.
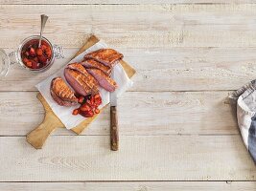
<svg viewBox="0 0 256 191">
<path fill-rule="evenodd" d="M 231 104 L 236 105 L 238 126 L 244 144 L 256 162 L 256 80 L 232 93 Z"/>
</svg>

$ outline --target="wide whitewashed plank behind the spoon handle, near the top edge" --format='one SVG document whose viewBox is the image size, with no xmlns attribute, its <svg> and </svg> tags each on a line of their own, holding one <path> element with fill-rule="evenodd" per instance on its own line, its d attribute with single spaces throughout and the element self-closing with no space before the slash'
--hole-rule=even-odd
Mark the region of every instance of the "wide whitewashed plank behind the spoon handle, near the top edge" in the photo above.
<svg viewBox="0 0 256 191">
<path fill-rule="evenodd" d="M 255 9 L 256 4 L 2 5 L 0 47 L 15 48 L 38 33 L 40 13 L 50 16 L 45 36 L 69 48 L 81 47 L 91 32 L 123 48 L 255 47 Z"/>
</svg>

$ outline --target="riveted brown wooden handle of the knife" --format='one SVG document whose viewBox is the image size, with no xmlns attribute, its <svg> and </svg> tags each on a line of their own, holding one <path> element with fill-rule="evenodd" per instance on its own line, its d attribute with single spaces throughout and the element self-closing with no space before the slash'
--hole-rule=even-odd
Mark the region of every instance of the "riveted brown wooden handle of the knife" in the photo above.
<svg viewBox="0 0 256 191">
<path fill-rule="evenodd" d="M 112 151 L 118 150 L 119 135 L 116 106 L 110 107 L 110 146 Z"/>
</svg>

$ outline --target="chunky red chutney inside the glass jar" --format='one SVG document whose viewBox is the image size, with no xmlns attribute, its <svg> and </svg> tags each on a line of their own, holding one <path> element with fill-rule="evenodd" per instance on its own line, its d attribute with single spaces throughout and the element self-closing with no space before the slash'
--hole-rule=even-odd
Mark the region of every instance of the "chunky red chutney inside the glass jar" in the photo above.
<svg viewBox="0 0 256 191">
<path fill-rule="evenodd" d="M 53 53 L 50 45 L 45 40 L 42 40 L 40 48 L 38 48 L 38 44 L 38 39 L 30 40 L 21 50 L 22 62 L 28 68 L 44 68 L 51 62 Z"/>
</svg>

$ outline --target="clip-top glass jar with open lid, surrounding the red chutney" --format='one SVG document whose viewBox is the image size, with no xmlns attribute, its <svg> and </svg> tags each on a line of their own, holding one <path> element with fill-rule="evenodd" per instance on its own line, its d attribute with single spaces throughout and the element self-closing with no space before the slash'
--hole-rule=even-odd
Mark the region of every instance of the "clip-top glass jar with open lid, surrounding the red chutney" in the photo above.
<svg viewBox="0 0 256 191">
<path fill-rule="evenodd" d="M 39 41 L 39 35 L 33 35 L 25 38 L 18 49 L 12 53 L 7 54 L 3 49 L 0 49 L 0 77 L 6 76 L 10 71 L 10 66 L 12 64 L 19 64 L 23 68 L 33 72 L 33 73 L 42 73 L 51 68 L 53 65 L 55 58 L 64 58 L 63 48 L 58 45 L 53 45 L 47 38 L 42 36 L 42 42 L 46 43 L 51 49 L 51 57 L 48 60 L 45 66 L 40 68 L 30 68 L 22 60 L 22 51 L 25 49 L 25 46 L 28 45 L 30 42 L 37 42 Z M 39 63 L 38 63 L 39 64 Z"/>
</svg>

